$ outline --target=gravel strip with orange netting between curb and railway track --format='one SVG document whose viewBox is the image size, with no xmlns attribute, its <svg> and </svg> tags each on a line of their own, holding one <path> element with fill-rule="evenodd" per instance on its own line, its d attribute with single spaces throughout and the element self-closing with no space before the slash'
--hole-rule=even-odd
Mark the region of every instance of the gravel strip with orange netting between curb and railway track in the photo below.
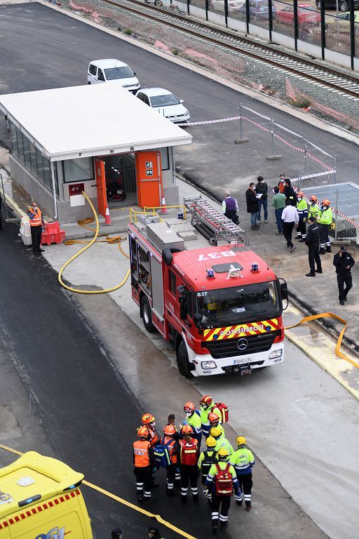
<svg viewBox="0 0 359 539">
<path fill-rule="evenodd" d="M 287 80 L 293 88 L 287 93 L 286 75 L 264 62 L 257 62 L 241 53 L 226 52 L 201 39 L 193 39 L 175 29 L 165 28 L 153 21 L 149 22 L 142 15 L 133 15 L 121 8 L 109 6 L 101 0 L 64 0 L 62 7 L 76 11 L 111 29 L 135 36 L 147 44 L 179 55 L 227 79 L 255 88 L 278 100 L 294 105 L 296 101 L 306 98 L 311 107 L 309 114 L 359 134 L 357 100 L 348 99 L 325 88 L 318 88 L 306 80 L 291 75 L 287 76 Z"/>
</svg>

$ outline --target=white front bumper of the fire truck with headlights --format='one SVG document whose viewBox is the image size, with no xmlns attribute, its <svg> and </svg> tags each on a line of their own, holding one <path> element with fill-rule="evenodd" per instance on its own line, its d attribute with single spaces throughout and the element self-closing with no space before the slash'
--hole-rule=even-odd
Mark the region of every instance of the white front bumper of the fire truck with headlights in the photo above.
<svg viewBox="0 0 359 539">
<path fill-rule="evenodd" d="M 240 366 L 250 365 L 252 369 L 262 368 L 282 363 L 284 359 L 283 342 L 273 344 L 266 352 L 256 352 L 248 354 L 248 356 L 225 357 L 222 359 L 214 359 L 210 354 L 196 354 L 188 345 L 187 352 L 190 363 L 195 366 L 194 371 L 192 371 L 194 376 L 238 373 Z M 278 357 L 269 359 L 271 354 Z M 206 363 L 215 364 L 215 368 L 207 368 Z"/>
</svg>

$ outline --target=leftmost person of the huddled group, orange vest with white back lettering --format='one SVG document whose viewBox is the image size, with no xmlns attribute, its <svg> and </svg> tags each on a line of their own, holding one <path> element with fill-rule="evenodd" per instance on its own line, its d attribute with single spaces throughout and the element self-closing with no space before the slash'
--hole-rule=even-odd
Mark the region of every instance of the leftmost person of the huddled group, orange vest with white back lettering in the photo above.
<svg viewBox="0 0 359 539">
<path fill-rule="evenodd" d="M 137 500 L 148 503 L 151 501 L 152 470 L 156 466 L 154 448 L 149 442 L 149 430 L 147 427 L 140 427 L 137 430 L 137 436 L 139 439 L 133 442 Z"/>
</svg>

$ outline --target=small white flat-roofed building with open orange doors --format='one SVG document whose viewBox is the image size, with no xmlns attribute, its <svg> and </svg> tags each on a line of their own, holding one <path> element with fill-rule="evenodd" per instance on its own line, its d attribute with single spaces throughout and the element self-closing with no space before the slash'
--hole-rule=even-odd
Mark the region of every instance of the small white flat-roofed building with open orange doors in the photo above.
<svg viewBox="0 0 359 539">
<path fill-rule="evenodd" d="M 178 204 L 173 147 L 191 135 L 116 82 L 0 95 L 11 176 L 54 220 L 124 201 Z"/>
</svg>

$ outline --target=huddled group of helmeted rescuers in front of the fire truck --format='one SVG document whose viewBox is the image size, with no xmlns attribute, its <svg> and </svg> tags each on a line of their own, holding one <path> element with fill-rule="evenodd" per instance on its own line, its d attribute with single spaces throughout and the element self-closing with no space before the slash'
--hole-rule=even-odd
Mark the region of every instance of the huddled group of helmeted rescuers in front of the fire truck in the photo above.
<svg viewBox="0 0 359 539">
<path fill-rule="evenodd" d="M 189 487 L 194 504 L 198 503 L 198 475 L 201 473 L 203 493 L 212 510 L 212 531 L 228 525 L 231 496 L 235 493 L 236 503 L 250 511 L 252 490 L 252 467 L 255 458 L 246 445 L 245 437 L 236 438 L 236 450 L 225 437 L 223 423 L 228 420 L 228 408 L 216 404 L 210 395 L 205 395 L 200 408 L 187 402 L 184 404 L 186 418 L 175 426 L 175 415 L 168 416 L 163 428 L 163 437 L 156 430 L 155 418 L 151 413 L 142 415 L 142 425 L 137 430 L 133 443 L 137 500 L 151 501 L 151 490 L 158 486 L 155 472 L 160 467 L 167 471 L 167 495 L 176 495 L 175 486 L 180 486 L 181 503 L 187 503 Z M 201 441 L 207 448 L 201 451 Z"/>
</svg>

